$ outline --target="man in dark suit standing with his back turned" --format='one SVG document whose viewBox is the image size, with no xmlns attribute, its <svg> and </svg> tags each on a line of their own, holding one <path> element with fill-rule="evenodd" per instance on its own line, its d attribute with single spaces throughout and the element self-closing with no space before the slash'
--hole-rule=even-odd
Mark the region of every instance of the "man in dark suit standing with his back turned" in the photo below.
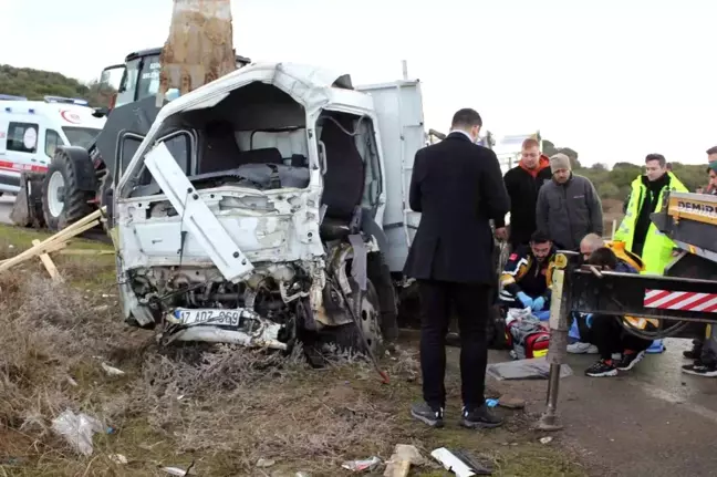
<svg viewBox="0 0 717 477">
<path fill-rule="evenodd" d="M 419 286 L 424 397 L 411 414 L 434 427 L 444 424 L 445 339 L 451 304 L 460 330 L 460 424 L 471 428 L 502 424 L 484 395 L 486 328 L 497 286 L 489 220 L 502 219 L 510 199 L 496 154 L 475 144 L 481 126 L 476 111 L 458 111 L 450 134 L 416 153 L 411 179 L 411 208 L 422 217 L 404 272 Z"/>
</svg>

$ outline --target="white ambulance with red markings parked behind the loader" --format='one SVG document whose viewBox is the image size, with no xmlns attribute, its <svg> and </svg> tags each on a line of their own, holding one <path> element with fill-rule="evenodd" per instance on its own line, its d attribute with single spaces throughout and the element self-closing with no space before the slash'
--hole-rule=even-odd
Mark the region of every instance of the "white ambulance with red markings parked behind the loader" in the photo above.
<svg viewBox="0 0 717 477">
<path fill-rule="evenodd" d="M 0 94 L 0 195 L 20 190 L 21 172 L 46 172 L 58 146 L 89 148 L 105 121 L 84 100 Z"/>
</svg>

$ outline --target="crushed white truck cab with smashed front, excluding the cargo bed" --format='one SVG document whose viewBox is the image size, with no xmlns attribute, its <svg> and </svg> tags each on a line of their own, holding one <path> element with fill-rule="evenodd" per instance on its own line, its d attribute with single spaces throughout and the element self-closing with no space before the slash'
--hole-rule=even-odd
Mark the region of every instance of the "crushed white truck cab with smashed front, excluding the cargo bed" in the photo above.
<svg viewBox="0 0 717 477">
<path fill-rule="evenodd" d="M 335 147 L 324 121 L 355 128 L 341 133 L 351 144 L 372 139 L 361 121 L 371 121 L 371 98 L 322 74 L 247 66 L 163 107 L 111 211 L 127 321 L 162 326 L 165 343 L 280 350 L 301 330 L 353 323 L 349 308 L 363 309 L 344 299 L 355 291 L 347 266 L 375 241 L 358 232 L 353 243 L 341 227 L 335 237 L 320 227 L 333 214 L 323 201 L 326 149 Z M 365 179 L 355 179 L 361 204 Z"/>
</svg>

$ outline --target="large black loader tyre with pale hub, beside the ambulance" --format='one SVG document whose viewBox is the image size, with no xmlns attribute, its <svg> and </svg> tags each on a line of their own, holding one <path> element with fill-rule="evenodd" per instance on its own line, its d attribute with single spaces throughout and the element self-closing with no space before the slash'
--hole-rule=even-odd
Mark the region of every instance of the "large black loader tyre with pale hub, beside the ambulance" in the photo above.
<svg viewBox="0 0 717 477">
<path fill-rule="evenodd" d="M 48 228 L 61 230 L 91 214 L 90 198 L 77 187 L 72 158 L 58 152 L 42 183 L 42 212 Z"/>
</svg>

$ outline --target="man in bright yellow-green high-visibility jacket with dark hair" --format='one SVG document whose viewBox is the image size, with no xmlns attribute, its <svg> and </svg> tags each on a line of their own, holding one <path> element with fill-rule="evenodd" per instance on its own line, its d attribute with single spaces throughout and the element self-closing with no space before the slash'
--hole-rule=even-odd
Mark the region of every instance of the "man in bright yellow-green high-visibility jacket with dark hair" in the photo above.
<svg viewBox="0 0 717 477">
<path fill-rule="evenodd" d="M 623 219 L 614 240 L 625 242 L 625 249 L 642 257 L 645 269 L 642 273 L 663 274 L 672 260 L 675 243 L 650 219 L 650 215 L 662 209 L 667 191 L 687 193 L 687 187 L 667 170 L 667 160 L 662 154 L 645 157 L 645 175 L 632 183 L 632 189 Z"/>
</svg>

